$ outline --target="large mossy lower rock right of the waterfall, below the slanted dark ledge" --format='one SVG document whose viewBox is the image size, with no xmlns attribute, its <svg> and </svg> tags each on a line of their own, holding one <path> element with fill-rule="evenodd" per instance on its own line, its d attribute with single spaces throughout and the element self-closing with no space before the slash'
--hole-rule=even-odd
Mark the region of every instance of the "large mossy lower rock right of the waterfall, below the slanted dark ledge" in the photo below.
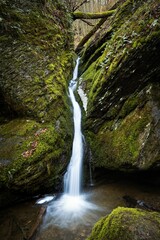
<svg viewBox="0 0 160 240">
<path fill-rule="evenodd" d="M 159 85 L 149 85 L 128 98 L 106 118 L 88 122 L 88 142 L 95 167 L 119 170 L 159 168 Z M 115 113 L 115 111 L 118 113 Z M 106 120 L 108 117 L 108 120 Z M 97 130 L 98 129 L 98 130 Z"/>
</svg>

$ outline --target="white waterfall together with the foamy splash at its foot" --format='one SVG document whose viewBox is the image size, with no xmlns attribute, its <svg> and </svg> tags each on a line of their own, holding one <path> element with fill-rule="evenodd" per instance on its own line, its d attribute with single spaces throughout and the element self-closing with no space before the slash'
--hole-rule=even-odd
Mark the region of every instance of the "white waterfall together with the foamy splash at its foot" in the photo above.
<svg viewBox="0 0 160 240">
<path fill-rule="evenodd" d="M 80 59 L 78 58 L 73 78 L 69 84 L 69 97 L 73 106 L 74 138 L 70 163 L 64 175 L 64 193 L 60 198 L 55 199 L 48 205 L 43 223 L 44 228 L 50 225 L 57 225 L 71 229 L 80 223 L 82 224 L 82 222 L 83 224 L 88 224 L 91 219 L 93 220 L 91 210 L 97 208 L 94 204 L 86 201 L 87 195 L 81 193 L 83 135 L 81 132 L 81 109 L 74 96 L 79 61 Z"/>
</svg>

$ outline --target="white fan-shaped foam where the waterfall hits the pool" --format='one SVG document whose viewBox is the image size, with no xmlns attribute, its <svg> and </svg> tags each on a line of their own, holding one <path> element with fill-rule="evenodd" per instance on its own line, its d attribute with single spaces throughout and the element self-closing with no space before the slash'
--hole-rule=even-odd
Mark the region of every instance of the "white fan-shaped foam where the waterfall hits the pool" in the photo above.
<svg viewBox="0 0 160 240">
<path fill-rule="evenodd" d="M 49 226 L 75 229 L 78 225 L 90 225 L 97 219 L 97 205 L 87 201 L 89 195 L 62 195 L 47 207 L 43 229 Z"/>
</svg>

